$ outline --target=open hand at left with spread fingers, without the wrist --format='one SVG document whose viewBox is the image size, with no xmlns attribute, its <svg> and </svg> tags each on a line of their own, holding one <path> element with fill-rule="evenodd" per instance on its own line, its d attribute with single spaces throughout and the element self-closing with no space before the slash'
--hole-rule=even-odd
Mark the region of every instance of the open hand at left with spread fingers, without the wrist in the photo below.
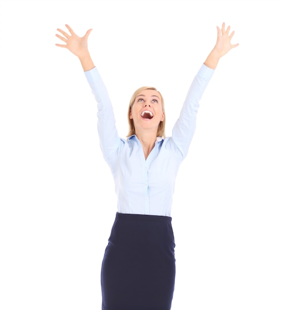
<svg viewBox="0 0 283 310">
<path fill-rule="evenodd" d="M 83 57 L 86 53 L 88 53 L 88 37 L 92 29 L 89 29 L 83 37 L 79 37 L 74 33 L 73 29 L 69 25 L 65 26 L 67 27 L 71 35 L 63 31 L 62 29 L 57 29 L 57 31 L 59 31 L 64 37 L 60 36 L 59 34 L 56 34 L 55 36 L 66 44 L 55 45 L 60 48 L 68 49 L 79 58 Z"/>
</svg>

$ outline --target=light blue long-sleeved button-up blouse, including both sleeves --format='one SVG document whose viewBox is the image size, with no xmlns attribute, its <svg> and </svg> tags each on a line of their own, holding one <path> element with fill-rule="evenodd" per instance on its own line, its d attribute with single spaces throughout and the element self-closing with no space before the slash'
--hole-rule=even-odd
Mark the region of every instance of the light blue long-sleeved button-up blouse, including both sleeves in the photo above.
<svg viewBox="0 0 283 310">
<path fill-rule="evenodd" d="M 100 148 L 114 178 L 118 212 L 171 216 L 176 175 L 188 154 L 199 101 L 213 73 L 213 69 L 201 65 L 173 127 L 172 137 L 157 137 L 145 160 L 136 135 L 128 140 L 119 137 L 112 104 L 97 68 L 85 72 L 97 102 Z"/>
</svg>

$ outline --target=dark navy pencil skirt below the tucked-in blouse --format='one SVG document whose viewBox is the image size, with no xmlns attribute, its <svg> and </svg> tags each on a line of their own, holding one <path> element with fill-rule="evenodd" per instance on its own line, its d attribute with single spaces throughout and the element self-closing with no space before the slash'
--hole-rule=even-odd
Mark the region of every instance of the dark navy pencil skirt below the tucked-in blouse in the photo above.
<svg viewBox="0 0 283 310">
<path fill-rule="evenodd" d="M 170 310 L 175 285 L 171 217 L 116 213 L 101 267 L 102 310 Z"/>
</svg>

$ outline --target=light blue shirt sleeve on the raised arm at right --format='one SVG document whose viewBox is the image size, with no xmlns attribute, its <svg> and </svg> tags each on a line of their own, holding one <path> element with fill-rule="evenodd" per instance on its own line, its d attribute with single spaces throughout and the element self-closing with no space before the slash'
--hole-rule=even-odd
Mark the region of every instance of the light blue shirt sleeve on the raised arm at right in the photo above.
<svg viewBox="0 0 283 310">
<path fill-rule="evenodd" d="M 213 73 L 213 69 L 202 64 L 191 83 L 180 116 L 173 127 L 172 140 L 181 152 L 183 159 L 188 154 L 189 145 L 195 132 L 199 101 Z"/>
</svg>

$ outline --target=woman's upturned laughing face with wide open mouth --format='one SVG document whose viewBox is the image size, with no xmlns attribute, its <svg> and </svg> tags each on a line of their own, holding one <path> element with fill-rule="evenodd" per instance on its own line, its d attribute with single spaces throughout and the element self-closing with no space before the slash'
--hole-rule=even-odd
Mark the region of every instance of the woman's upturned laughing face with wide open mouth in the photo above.
<svg viewBox="0 0 283 310">
<path fill-rule="evenodd" d="M 160 121 L 164 120 L 164 111 L 160 94 L 151 89 L 142 91 L 135 99 L 130 112 L 133 119 L 135 130 L 158 129 Z"/>
</svg>

